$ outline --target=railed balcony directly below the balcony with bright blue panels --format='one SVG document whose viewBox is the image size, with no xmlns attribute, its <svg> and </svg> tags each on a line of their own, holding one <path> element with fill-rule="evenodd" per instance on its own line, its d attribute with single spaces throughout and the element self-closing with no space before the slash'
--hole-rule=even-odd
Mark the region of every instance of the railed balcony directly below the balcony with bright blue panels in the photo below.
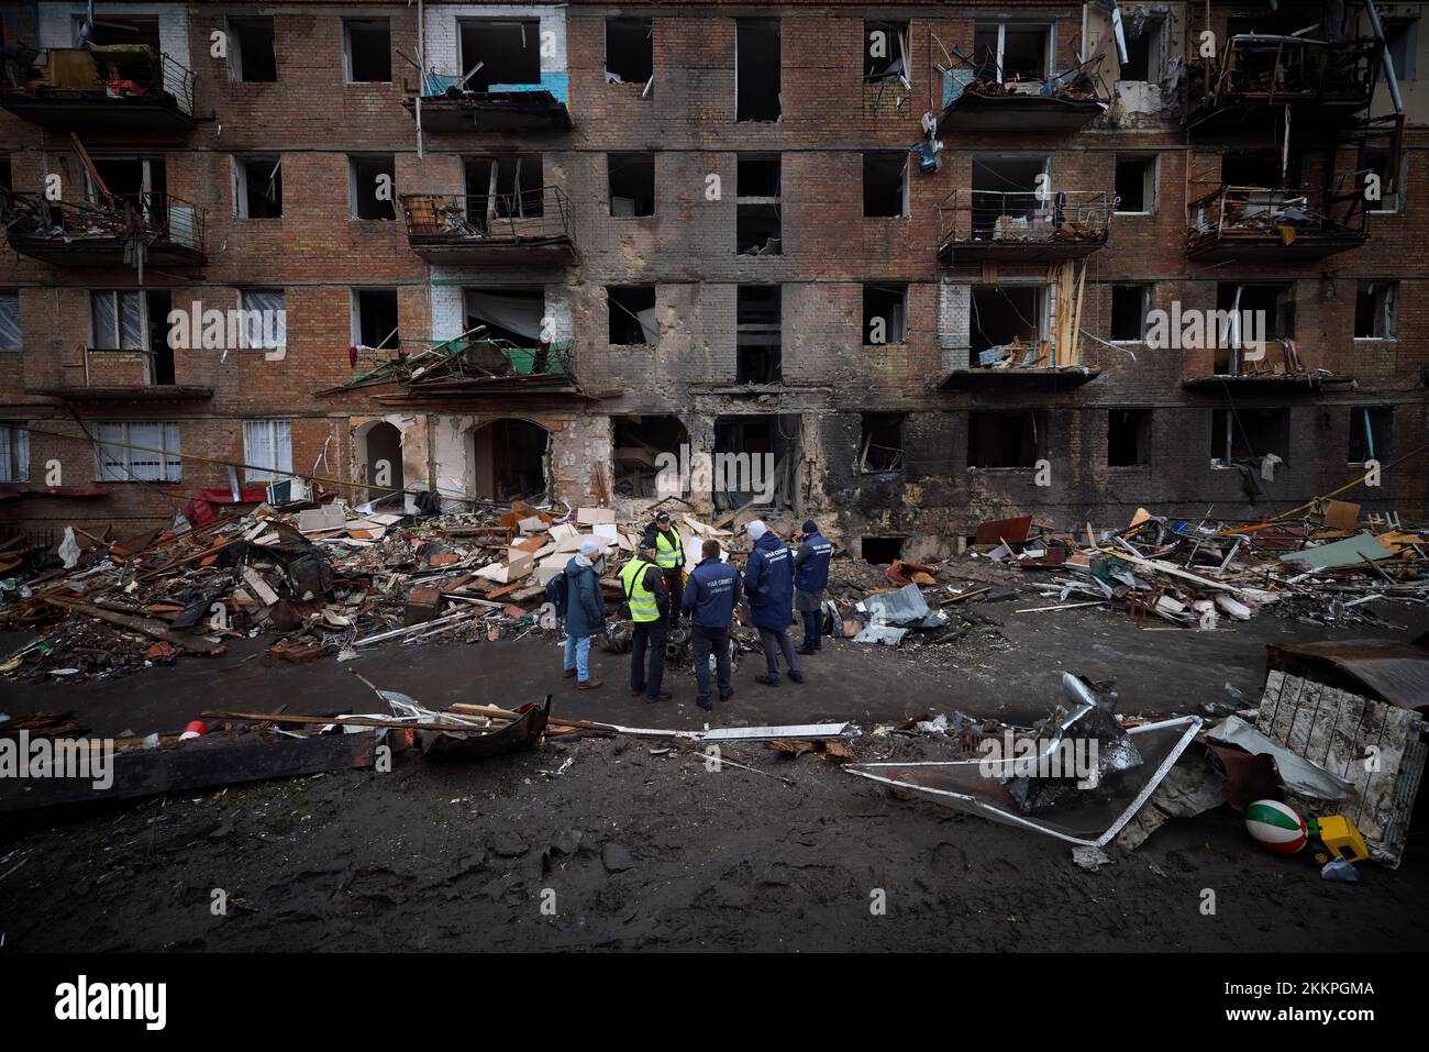
<svg viewBox="0 0 1429 1052">
<path fill-rule="evenodd" d="M 543 186 L 499 194 L 406 194 L 407 243 L 430 263 L 574 263 L 570 200 Z"/>
</svg>

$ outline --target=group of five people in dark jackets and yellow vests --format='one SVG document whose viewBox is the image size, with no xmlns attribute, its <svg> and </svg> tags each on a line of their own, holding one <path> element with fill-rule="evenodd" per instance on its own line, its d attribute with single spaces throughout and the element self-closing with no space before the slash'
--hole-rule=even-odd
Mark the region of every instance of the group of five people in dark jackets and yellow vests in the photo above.
<svg viewBox="0 0 1429 1052">
<path fill-rule="evenodd" d="M 694 662 L 694 699 L 706 712 L 710 700 L 710 658 L 714 659 L 714 680 L 719 700 L 727 702 L 735 686 L 730 672 L 730 626 L 735 607 L 747 602 L 749 620 L 759 630 L 765 650 L 766 670 L 755 682 L 779 686 L 780 658 L 789 679 L 803 683 L 799 656 L 822 649 L 823 592 L 829 583 L 829 560 L 833 546 L 819 533 L 819 526 L 806 522 L 795 532 L 799 543 L 792 550 L 785 540 L 765 526 L 749 523 L 753 550 L 745 563 L 743 579 L 725 560 L 717 540 L 706 540 L 700 547 L 700 562 L 684 575 L 684 540 L 660 512 L 649 526 L 636 555 L 620 570 L 630 619 L 634 623 L 630 652 L 630 693 L 644 695 L 647 702 L 670 699 L 664 689 L 664 645 L 670 629 L 682 616 L 690 619 L 690 650 Z M 600 576 L 604 556 L 594 540 L 582 543 L 580 550 L 566 565 L 566 676 L 576 676 L 576 686 L 592 690 L 603 686 L 590 676 L 590 637 L 604 629 L 604 602 Z M 789 639 L 789 625 L 797 609 L 803 622 L 803 643 L 795 649 Z"/>
</svg>

